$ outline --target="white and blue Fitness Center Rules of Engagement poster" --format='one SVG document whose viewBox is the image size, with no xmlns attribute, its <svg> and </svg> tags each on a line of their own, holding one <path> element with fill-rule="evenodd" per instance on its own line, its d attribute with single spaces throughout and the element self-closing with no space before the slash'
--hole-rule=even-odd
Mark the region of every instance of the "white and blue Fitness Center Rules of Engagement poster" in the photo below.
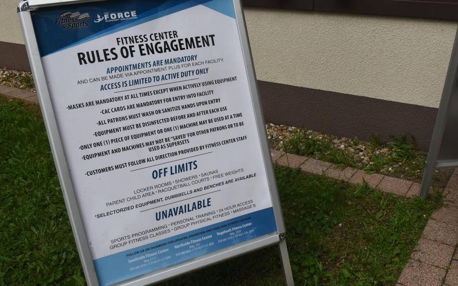
<svg viewBox="0 0 458 286">
<path fill-rule="evenodd" d="M 232 1 L 32 12 L 101 285 L 276 232 Z"/>
</svg>

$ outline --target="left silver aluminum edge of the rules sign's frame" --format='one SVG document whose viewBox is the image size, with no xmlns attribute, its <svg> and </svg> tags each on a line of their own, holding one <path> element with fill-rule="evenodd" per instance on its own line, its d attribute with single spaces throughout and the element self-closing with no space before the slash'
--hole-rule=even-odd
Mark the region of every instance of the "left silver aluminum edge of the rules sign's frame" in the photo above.
<svg viewBox="0 0 458 286">
<path fill-rule="evenodd" d="M 21 23 L 21 29 L 24 36 L 24 42 L 27 48 L 30 66 L 36 85 L 38 100 L 40 102 L 43 121 L 48 134 L 49 145 L 51 147 L 52 157 L 56 166 L 59 177 L 60 187 L 67 209 L 68 219 L 70 220 L 73 237 L 77 244 L 81 264 L 89 286 L 99 286 L 97 274 L 92 262 L 89 243 L 84 229 L 83 221 L 78 208 L 77 199 L 74 193 L 73 185 L 70 179 L 67 162 L 63 152 L 62 142 L 60 140 L 59 130 L 57 129 L 56 118 L 49 96 L 48 86 L 41 63 L 41 56 L 38 50 L 38 43 L 35 36 L 35 30 L 32 24 L 30 10 L 22 11 L 23 5 L 28 5 L 27 1 L 21 1 L 19 4 L 18 16 Z"/>
</svg>

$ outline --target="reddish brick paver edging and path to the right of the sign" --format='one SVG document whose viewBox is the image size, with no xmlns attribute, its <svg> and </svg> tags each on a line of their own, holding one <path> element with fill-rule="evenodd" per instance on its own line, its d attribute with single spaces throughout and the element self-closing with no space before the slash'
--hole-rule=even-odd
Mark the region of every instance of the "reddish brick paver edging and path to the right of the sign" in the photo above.
<svg viewBox="0 0 458 286">
<path fill-rule="evenodd" d="M 331 163 L 304 156 L 277 150 L 271 150 L 271 155 L 272 161 L 280 166 L 300 168 L 307 173 L 351 184 L 360 184 L 364 179 L 372 188 L 401 196 L 412 197 L 420 189 L 420 184 L 412 181 L 380 174 L 370 175 L 350 167 L 337 170 Z M 426 224 L 398 279 L 398 286 L 458 286 L 458 169 L 455 169 L 446 188 L 440 191 L 445 203 Z"/>
</svg>

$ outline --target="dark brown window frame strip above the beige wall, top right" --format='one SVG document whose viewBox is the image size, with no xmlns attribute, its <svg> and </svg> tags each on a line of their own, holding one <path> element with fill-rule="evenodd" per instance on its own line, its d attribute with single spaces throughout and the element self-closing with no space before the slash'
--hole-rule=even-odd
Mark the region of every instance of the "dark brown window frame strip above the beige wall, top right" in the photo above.
<svg viewBox="0 0 458 286">
<path fill-rule="evenodd" d="M 245 7 L 458 20 L 458 0 L 243 0 Z"/>
</svg>

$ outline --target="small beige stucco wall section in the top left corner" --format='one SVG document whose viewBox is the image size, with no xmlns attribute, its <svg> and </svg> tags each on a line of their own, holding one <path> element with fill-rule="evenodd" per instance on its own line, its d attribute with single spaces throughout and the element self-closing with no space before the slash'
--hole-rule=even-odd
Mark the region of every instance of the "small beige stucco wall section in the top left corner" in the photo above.
<svg viewBox="0 0 458 286">
<path fill-rule="evenodd" d="M 0 0 L 0 41 L 24 44 L 18 20 L 19 0 Z"/>
</svg>

